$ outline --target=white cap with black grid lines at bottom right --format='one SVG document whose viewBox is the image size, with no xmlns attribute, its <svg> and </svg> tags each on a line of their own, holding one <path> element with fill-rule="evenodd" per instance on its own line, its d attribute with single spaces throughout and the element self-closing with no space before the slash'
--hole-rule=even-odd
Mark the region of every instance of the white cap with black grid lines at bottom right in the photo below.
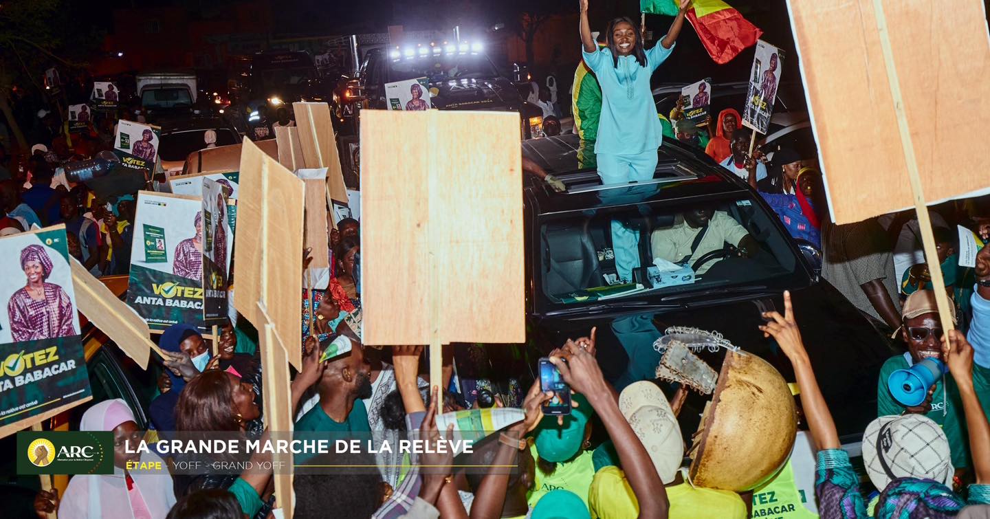
<svg viewBox="0 0 990 519">
<path fill-rule="evenodd" d="M 898 477 L 934 479 L 951 487 L 955 468 L 939 424 L 920 414 L 881 416 L 863 433 L 863 465 L 873 486 Z"/>
</svg>

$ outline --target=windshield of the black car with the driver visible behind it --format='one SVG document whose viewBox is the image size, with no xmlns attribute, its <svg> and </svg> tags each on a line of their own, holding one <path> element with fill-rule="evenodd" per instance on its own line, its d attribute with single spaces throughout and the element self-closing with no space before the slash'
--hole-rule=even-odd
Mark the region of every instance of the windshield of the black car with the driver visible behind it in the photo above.
<svg viewBox="0 0 990 519">
<path fill-rule="evenodd" d="M 635 195 L 603 196 L 624 194 Z M 680 294 L 742 284 L 782 289 L 802 274 L 774 218 L 744 193 L 547 216 L 540 227 L 545 302 L 676 300 Z M 632 246 L 617 250 L 615 237 Z M 621 278 L 618 267 L 629 270 L 636 258 L 644 266 Z"/>
</svg>

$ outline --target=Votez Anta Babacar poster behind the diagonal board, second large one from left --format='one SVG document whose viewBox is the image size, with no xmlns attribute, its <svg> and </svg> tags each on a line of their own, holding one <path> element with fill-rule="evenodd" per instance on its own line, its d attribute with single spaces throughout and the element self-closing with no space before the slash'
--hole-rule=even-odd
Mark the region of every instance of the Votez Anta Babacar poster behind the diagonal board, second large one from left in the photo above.
<svg viewBox="0 0 990 519">
<path fill-rule="evenodd" d="M 139 191 L 127 302 L 151 330 L 203 322 L 199 198 Z"/>
</svg>

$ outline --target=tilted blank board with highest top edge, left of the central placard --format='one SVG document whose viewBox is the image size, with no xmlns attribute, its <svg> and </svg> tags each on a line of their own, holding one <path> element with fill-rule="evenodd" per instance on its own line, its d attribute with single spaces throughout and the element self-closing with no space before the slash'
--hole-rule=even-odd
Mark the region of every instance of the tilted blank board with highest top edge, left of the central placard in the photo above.
<svg viewBox="0 0 990 519">
<path fill-rule="evenodd" d="M 306 167 L 327 168 L 327 192 L 331 199 L 347 204 L 347 185 L 334 136 L 334 123 L 327 103 L 292 103 L 299 128 Z"/>
</svg>

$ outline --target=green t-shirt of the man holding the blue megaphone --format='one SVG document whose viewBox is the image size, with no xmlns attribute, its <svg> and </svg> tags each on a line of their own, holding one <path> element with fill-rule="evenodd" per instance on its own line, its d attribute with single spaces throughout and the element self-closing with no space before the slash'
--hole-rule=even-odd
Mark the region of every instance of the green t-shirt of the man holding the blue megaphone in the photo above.
<svg viewBox="0 0 990 519">
<path fill-rule="evenodd" d="M 876 384 L 877 416 L 899 415 L 904 412 L 904 406 L 890 394 L 890 389 L 887 388 L 887 379 L 890 377 L 890 373 L 910 367 L 910 359 L 911 354 L 907 353 L 891 357 L 880 368 L 880 376 Z M 962 399 L 952 376 L 946 373 L 944 379 L 946 380 L 944 398 L 942 397 L 942 383 L 939 381 L 936 383 L 935 392 L 932 393 L 932 410 L 925 416 L 939 424 L 945 433 L 952 456 L 952 466 L 956 468 L 969 467 L 969 435 L 966 432 L 966 417 L 962 410 Z M 977 386 L 977 392 L 979 391 L 980 388 Z"/>
</svg>

